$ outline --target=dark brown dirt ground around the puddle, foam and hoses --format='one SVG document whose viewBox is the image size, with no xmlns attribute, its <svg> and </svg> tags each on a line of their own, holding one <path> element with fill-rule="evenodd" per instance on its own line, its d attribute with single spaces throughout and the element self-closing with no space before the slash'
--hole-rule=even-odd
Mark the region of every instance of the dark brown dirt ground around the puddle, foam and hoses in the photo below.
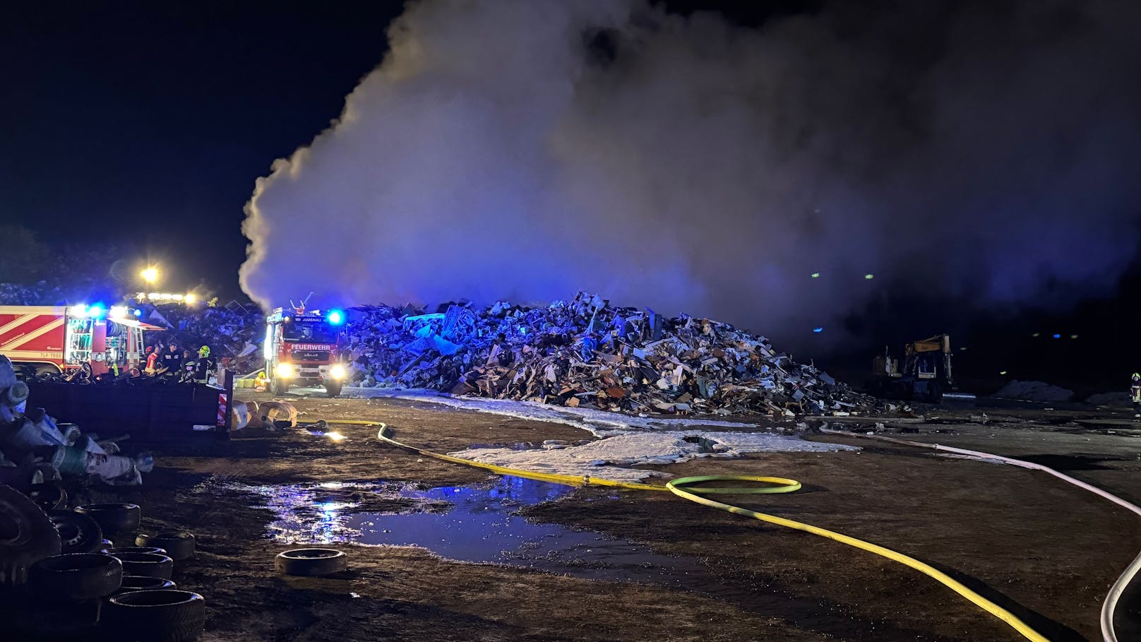
<svg viewBox="0 0 1141 642">
<path fill-rule="evenodd" d="M 245 399 L 268 399 L 244 394 Z M 388 423 L 437 451 L 472 443 L 581 440 L 578 428 L 390 399 L 297 399 L 302 420 Z M 947 411 L 887 423 L 916 441 L 1028 457 L 1141 501 L 1141 425 L 1126 415 L 1044 408 Z M 971 417 L 974 416 L 974 419 Z M 815 424 L 818 424 L 815 423 Z M 859 420 L 831 427 L 866 430 Z M 188 435 L 155 449 L 137 489 L 89 500 L 135 501 L 143 529 L 184 528 L 196 560 L 175 580 L 208 603 L 207 641 L 756 641 L 1021 640 L 934 580 L 885 559 L 669 493 L 580 488 L 525 508 L 531 521 L 590 529 L 696 560 L 704 572 L 669 584 L 598 581 L 502 564 L 455 562 L 411 546 L 338 545 L 342 576 L 278 576 L 274 515 L 225 482 L 386 480 L 428 485 L 487 474 L 382 446 L 340 426 L 333 442 L 301 431 Z M 953 459 L 866 439 L 814 435 L 858 452 L 763 454 L 658 466 L 675 475 L 762 474 L 800 480 L 788 495 L 733 503 L 893 548 L 949 572 L 1053 641 L 1100 640 L 1101 600 L 1141 551 L 1141 520 L 1089 492 L 1022 468 Z M 228 489 L 228 490 L 227 490 Z M 1132 603 L 1132 602 L 1131 602 Z M 1138 616 L 1123 609 L 1119 620 Z M 1122 640 L 1141 640 L 1122 621 Z"/>
</svg>

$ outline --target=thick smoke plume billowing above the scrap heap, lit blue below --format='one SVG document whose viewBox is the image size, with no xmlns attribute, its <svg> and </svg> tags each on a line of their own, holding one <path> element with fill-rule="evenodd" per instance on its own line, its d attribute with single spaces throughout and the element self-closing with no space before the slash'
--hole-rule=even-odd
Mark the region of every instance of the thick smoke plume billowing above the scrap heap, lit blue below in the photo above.
<svg viewBox="0 0 1141 642">
<path fill-rule="evenodd" d="M 258 180 L 242 286 L 265 306 L 588 289 L 777 338 L 885 289 L 1104 291 L 1138 241 L 1139 18 L 1097 0 L 836 2 L 760 27 L 642 0 L 411 3 L 340 119 Z"/>
</svg>

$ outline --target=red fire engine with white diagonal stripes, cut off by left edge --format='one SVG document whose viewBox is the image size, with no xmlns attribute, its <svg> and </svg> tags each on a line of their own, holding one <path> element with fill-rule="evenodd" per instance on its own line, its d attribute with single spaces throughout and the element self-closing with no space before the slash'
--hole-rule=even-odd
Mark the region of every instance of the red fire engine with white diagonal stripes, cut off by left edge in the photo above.
<svg viewBox="0 0 1141 642">
<path fill-rule="evenodd" d="M 136 368 L 144 330 L 163 330 L 126 306 L 0 306 L 0 354 L 27 375 L 90 369 L 91 376 Z"/>
</svg>

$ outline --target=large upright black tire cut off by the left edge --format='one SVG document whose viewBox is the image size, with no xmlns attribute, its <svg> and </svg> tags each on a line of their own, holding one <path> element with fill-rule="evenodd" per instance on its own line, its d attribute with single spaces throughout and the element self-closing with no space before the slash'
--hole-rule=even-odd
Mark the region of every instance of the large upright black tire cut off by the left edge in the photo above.
<svg viewBox="0 0 1141 642">
<path fill-rule="evenodd" d="M 59 554 L 59 533 L 34 501 L 0 485 L 0 587 L 27 581 L 29 568 Z"/>
</svg>

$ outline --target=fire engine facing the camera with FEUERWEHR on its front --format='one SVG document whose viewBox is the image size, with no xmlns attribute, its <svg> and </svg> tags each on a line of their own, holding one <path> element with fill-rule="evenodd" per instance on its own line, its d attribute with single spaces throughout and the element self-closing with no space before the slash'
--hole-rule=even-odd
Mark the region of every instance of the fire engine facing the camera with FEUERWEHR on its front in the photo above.
<svg viewBox="0 0 1141 642">
<path fill-rule="evenodd" d="M 338 350 L 345 313 L 330 310 L 278 307 L 266 316 L 266 378 L 269 392 L 284 394 L 290 386 L 324 386 L 329 396 L 341 394 L 348 371 Z"/>
</svg>

